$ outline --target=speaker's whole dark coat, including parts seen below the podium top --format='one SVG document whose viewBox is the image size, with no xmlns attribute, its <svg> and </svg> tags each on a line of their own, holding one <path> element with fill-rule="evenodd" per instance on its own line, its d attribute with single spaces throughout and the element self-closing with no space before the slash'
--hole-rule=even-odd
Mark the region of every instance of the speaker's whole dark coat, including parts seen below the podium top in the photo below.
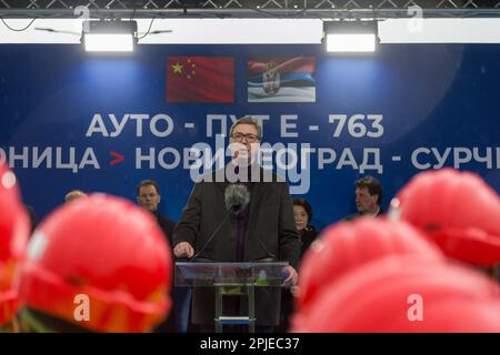
<svg viewBox="0 0 500 355">
<path fill-rule="evenodd" d="M 270 173 L 262 169 L 260 173 L 261 176 L 270 176 Z M 176 225 L 173 246 L 181 242 L 188 242 L 194 247 L 194 252 L 198 252 L 206 245 L 213 231 L 227 216 L 224 191 L 229 183 L 214 182 L 217 175 L 217 172 L 211 173 L 203 176 L 204 181 L 194 184 L 182 216 Z M 271 178 L 272 182 L 261 180 L 261 182 L 251 183 L 243 260 L 256 261 L 268 257 L 271 253 L 280 261 L 288 261 L 297 268 L 301 243 L 294 226 L 289 186 L 277 175 L 272 174 Z M 237 219 L 234 215 L 231 215 L 222 225 L 216 237 L 207 245 L 202 256 L 220 262 L 236 261 Z M 280 294 L 276 291 L 279 290 L 258 291 L 256 292 L 257 324 L 278 324 Z M 194 288 L 192 298 L 193 323 L 213 324 L 213 292 L 201 287 Z"/>
</svg>

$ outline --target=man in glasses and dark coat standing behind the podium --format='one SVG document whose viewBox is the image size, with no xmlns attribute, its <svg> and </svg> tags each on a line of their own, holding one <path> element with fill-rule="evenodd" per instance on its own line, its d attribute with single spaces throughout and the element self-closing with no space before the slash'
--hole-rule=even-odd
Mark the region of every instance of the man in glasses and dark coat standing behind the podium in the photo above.
<svg viewBox="0 0 500 355">
<path fill-rule="evenodd" d="M 261 133 L 258 122 L 249 116 L 231 126 L 232 160 L 224 169 L 204 175 L 194 184 L 173 232 L 173 253 L 177 257 L 197 255 L 217 262 L 257 261 L 271 256 L 290 263 L 284 270 L 284 284 L 294 285 L 300 239 L 292 200 L 287 182 L 256 162 Z M 234 183 L 244 185 L 250 202 L 224 221 L 228 217 L 227 189 Z M 256 294 L 257 329 L 269 331 L 278 325 L 279 308 L 279 292 L 259 290 Z M 214 324 L 213 292 L 194 288 L 191 312 L 193 323 L 210 331 Z"/>
</svg>

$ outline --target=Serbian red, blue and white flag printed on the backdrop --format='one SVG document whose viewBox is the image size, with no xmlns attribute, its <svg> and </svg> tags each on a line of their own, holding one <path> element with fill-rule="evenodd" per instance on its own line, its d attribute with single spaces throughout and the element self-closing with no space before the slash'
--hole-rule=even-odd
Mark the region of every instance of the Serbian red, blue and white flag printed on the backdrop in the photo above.
<svg viewBox="0 0 500 355">
<path fill-rule="evenodd" d="M 247 61 L 248 102 L 316 102 L 316 58 L 254 58 Z"/>
</svg>

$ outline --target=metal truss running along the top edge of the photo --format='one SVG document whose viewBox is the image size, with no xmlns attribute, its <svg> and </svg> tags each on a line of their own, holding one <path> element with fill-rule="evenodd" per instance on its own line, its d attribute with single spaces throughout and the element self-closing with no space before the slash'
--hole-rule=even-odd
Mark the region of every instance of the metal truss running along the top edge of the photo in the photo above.
<svg viewBox="0 0 500 355">
<path fill-rule="evenodd" d="M 500 17 L 500 0 L 0 0 L 0 17 L 71 18 L 79 6 L 138 18 L 404 18 L 410 7 L 427 18 Z"/>
</svg>

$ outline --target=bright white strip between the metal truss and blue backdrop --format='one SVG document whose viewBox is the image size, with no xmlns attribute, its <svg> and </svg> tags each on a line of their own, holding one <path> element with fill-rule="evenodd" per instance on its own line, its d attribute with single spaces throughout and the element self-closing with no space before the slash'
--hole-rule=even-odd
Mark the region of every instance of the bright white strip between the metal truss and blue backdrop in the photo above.
<svg viewBox="0 0 500 355">
<path fill-rule="evenodd" d="M 0 0 L 1 2 L 1 0 Z M 22 29 L 32 19 L 4 19 L 11 28 Z M 136 19 L 139 32 L 146 33 L 150 18 Z M 380 43 L 500 43 L 500 18 L 496 19 L 388 19 L 379 22 Z M 417 24 L 417 26 L 416 26 Z M 38 31 L 50 28 L 53 32 Z M 81 19 L 37 19 L 27 30 L 11 31 L 0 22 L 0 43 L 78 44 Z M 279 29 L 279 31 L 278 31 Z M 311 43 L 323 38 L 319 19 L 156 19 L 141 44 L 248 44 Z M 70 34 L 78 32 L 79 36 Z"/>
</svg>

